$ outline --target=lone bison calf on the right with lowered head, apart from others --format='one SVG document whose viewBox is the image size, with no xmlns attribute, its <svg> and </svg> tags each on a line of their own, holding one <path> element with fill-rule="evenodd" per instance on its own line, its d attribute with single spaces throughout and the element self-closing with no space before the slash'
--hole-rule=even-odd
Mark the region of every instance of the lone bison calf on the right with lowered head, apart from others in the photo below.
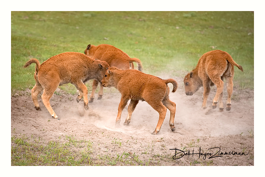
<svg viewBox="0 0 265 177">
<path fill-rule="evenodd" d="M 184 78 L 186 95 L 193 95 L 201 86 L 204 88 L 202 108 L 206 108 L 210 86 L 217 87 L 213 99 L 213 109 L 217 107 L 219 100 L 219 111 L 224 111 L 223 107 L 223 79 L 227 84 L 226 110 L 231 109 L 231 95 L 233 92 L 234 66 L 243 71 L 242 66 L 236 64 L 233 58 L 222 50 L 213 50 L 201 56 L 195 69 L 188 73 Z"/>
</svg>

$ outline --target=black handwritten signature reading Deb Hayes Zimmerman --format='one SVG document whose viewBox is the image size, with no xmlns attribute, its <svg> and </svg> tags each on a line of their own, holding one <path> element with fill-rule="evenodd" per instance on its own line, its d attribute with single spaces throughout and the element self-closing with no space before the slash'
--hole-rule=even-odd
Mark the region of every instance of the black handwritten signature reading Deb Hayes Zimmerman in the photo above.
<svg viewBox="0 0 265 177">
<path fill-rule="evenodd" d="M 183 150 L 179 150 L 177 148 L 169 149 L 169 150 L 175 150 L 175 155 L 173 156 L 173 159 L 175 159 L 175 160 L 182 158 L 184 155 L 192 155 L 192 157 L 193 157 L 193 155 L 196 155 L 196 154 L 199 154 L 199 158 L 202 156 L 204 160 L 206 159 L 207 156 L 210 156 L 210 157 L 208 157 L 208 159 L 210 159 L 210 158 L 214 158 L 214 157 L 223 157 L 223 155 L 248 155 L 249 154 L 249 153 L 245 154 L 245 152 L 238 153 L 238 152 L 234 152 L 234 151 L 232 151 L 232 152 L 230 151 L 229 153 L 220 152 L 221 148 L 210 148 L 208 150 L 211 151 L 211 150 L 215 150 L 215 149 L 217 149 L 216 153 L 211 153 L 211 152 L 201 153 L 201 147 L 200 147 L 199 153 L 194 153 L 194 150 L 192 152 L 190 152 L 189 150 L 183 151 Z"/>
</svg>

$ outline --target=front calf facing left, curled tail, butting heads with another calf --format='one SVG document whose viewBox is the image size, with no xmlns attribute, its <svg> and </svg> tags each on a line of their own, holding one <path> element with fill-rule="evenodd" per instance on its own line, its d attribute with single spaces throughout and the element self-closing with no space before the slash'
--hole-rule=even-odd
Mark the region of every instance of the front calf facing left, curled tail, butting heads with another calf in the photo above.
<svg viewBox="0 0 265 177">
<path fill-rule="evenodd" d="M 160 131 L 166 116 L 167 108 L 170 110 L 170 129 L 173 132 L 175 130 L 174 117 L 176 104 L 169 99 L 168 83 L 173 84 L 172 92 L 175 92 L 178 84 L 174 79 L 163 80 L 153 75 L 144 74 L 138 70 L 121 70 L 116 67 L 111 67 L 105 73 L 105 77 L 101 81 L 104 87 L 115 87 L 121 93 L 121 102 L 118 107 L 116 125 L 120 124 L 121 112 L 129 99 L 131 99 L 131 102 L 128 106 L 128 116 L 124 125 L 129 125 L 131 114 L 139 100 L 146 101 L 159 113 L 159 120 L 152 134 L 157 134 Z"/>
</svg>

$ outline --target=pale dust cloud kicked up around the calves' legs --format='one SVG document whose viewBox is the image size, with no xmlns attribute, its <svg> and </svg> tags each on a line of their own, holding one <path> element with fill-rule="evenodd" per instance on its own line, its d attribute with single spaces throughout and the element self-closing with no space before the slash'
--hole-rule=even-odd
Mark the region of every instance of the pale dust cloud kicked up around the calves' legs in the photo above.
<svg viewBox="0 0 265 177">
<path fill-rule="evenodd" d="M 169 77 L 161 77 L 167 79 Z M 215 86 L 211 87 L 211 92 L 207 100 L 207 108 L 201 109 L 203 100 L 203 88 L 199 89 L 194 95 L 187 96 L 184 93 L 183 79 L 180 77 L 173 78 L 178 82 L 178 89 L 175 93 L 170 92 L 169 98 L 176 103 L 175 115 L 175 132 L 181 135 L 191 134 L 194 136 L 223 136 L 227 134 L 248 134 L 248 130 L 254 130 L 254 103 L 242 103 L 232 100 L 230 111 L 218 112 L 211 108 L 211 102 L 215 95 Z M 170 91 L 173 86 L 169 83 Z M 105 88 L 109 89 L 109 88 Z M 104 89 L 104 90 L 105 90 Z M 94 99 L 89 103 L 89 110 L 83 109 L 82 101 L 75 102 L 73 96 L 72 105 L 61 105 L 55 112 L 61 117 L 71 117 L 79 123 L 90 123 L 95 127 L 103 130 L 123 133 L 141 133 L 151 134 L 158 123 L 158 112 L 156 112 L 147 102 L 139 102 L 136 106 L 129 126 L 123 125 L 127 117 L 127 103 L 121 115 L 119 127 L 115 127 L 115 121 L 118 113 L 118 105 L 121 95 L 112 93 L 103 93 L 103 99 Z M 227 98 L 226 88 L 224 88 L 223 102 Z M 246 110 L 244 104 L 253 109 Z M 59 116 L 60 117 L 60 116 Z M 250 118 L 249 118 L 250 117 Z M 167 110 L 165 120 L 162 124 L 159 134 L 165 135 L 172 133 L 169 127 L 170 111 Z"/>
</svg>

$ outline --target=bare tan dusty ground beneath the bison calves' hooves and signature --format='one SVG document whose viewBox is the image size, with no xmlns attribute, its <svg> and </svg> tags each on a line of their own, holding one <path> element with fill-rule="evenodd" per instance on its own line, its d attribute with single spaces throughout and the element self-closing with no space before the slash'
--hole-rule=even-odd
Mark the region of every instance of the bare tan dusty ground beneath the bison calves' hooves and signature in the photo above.
<svg viewBox="0 0 265 177">
<path fill-rule="evenodd" d="M 114 157 L 127 152 L 139 155 L 138 158 L 144 165 L 254 166 L 254 91 L 238 91 L 234 88 L 231 111 L 224 109 L 224 112 L 218 112 L 218 108 L 211 109 L 215 86 L 211 87 L 207 103 L 209 108 L 201 110 L 203 89 L 198 90 L 193 96 L 186 96 L 183 78 L 174 79 L 178 82 L 179 88 L 169 96 L 176 103 L 175 132 L 169 127 L 168 110 L 160 132 L 157 135 L 151 134 L 157 125 L 158 113 L 146 102 L 139 102 L 129 126 L 123 125 L 127 116 L 126 107 L 122 112 L 120 127 L 115 128 L 120 94 L 107 93 L 109 88 L 105 88 L 103 99 L 95 98 L 93 103 L 89 103 L 88 111 L 83 109 L 82 100 L 80 103 L 76 102 L 77 95 L 67 95 L 57 90 L 59 94 L 54 94 L 50 103 L 61 120 L 52 119 L 41 101 L 41 94 L 39 103 L 42 111 L 34 108 L 30 90 L 12 96 L 11 136 L 33 135 L 34 138 L 40 137 L 45 142 L 58 141 L 59 137 L 65 135 L 72 135 L 80 140 L 91 140 L 94 159 L 104 155 Z M 172 90 L 172 85 L 169 86 Z M 224 102 L 226 98 L 225 87 Z M 113 140 L 120 141 L 121 144 L 115 144 Z M 63 142 L 63 138 L 60 141 Z M 179 154 L 174 156 L 175 150 L 170 150 L 175 148 L 185 148 L 190 153 L 193 150 L 194 153 L 199 153 L 201 149 L 203 155 L 184 155 L 180 159 L 173 159 L 180 157 Z M 244 152 L 247 155 L 230 153 L 222 157 L 209 158 L 219 150 L 218 148 L 219 153 Z M 205 152 L 213 154 L 208 154 L 204 158 Z M 109 164 L 105 162 L 103 165 Z"/>
</svg>

